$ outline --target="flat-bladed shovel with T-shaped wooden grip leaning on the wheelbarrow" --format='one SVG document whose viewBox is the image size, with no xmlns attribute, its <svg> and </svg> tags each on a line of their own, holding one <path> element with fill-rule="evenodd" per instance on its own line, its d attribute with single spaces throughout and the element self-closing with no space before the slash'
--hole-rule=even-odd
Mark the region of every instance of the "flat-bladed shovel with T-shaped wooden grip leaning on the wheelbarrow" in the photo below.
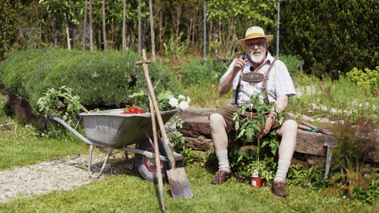
<svg viewBox="0 0 379 213">
<path fill-rule="evenodd" d="M 184 170 L 184 167 L 180 167 L 180 168 L 175 167 L 175 159 L 174 159 L 174 155 L 172 154 L 172 148 L 167 138 L 166 129 L 164 128 L 164 124 L 163 124 L 162 117 L 159 111 L 157 99 L 155 98 L 153 86 L 150 81 L 149 68 L 147 67 L 147 64 L 149 64 L 150 61 L 147 61 L 146 51 L 144 49 L 142 50 L 142 55 L 143 55 L 144 61 L 138 61 L 136 62 L 136 64 L 142 64 L 146 81 L 147 81 L 147 90 L 149 92 L 149 96 L 151 98 L 151 101 L 155 109 L 155 114 L 157 116 L 159 128 L 161 130 L 163 142 L 166 148 L 167 157 L 170 161 L 171 169 L 167 170 L 167 177 L 170 183 L 172 197 L 174 199 L 181 198 L 181 197 L 183 198 L 193 197 L 191 186 L 189 185 L 189 181 L 188 181 L 186 172 Z"/>
</svg>

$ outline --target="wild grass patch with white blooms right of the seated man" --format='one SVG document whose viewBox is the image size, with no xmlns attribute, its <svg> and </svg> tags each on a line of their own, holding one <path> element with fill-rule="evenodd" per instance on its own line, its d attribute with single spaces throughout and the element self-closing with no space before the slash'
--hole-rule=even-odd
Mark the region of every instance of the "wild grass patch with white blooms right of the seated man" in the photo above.
<svg viewBox="0 0 379 213">
<path fill-rule="evenodd" d="M 379 99 L 371 91 L 357 86 L 345 76 L 338 80 L 318 79 L 315 76 L 298 75 L 297 95 L 289 99 L 287 111 L 313 118 L 332 121 L 350 121 L 356 124 L 359 117 L 376 129 L 379 124 Z"/>
</svg>

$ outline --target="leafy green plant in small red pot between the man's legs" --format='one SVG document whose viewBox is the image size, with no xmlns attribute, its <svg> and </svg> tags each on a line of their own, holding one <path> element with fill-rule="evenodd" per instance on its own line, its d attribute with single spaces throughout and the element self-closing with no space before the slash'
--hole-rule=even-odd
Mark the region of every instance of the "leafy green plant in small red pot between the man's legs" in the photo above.
<svg viewBox="0 0 379 213">
<path fill-rule="evenodd" d="M 260 95 L 263 96 L 263 101 L 259 98 Z M 256 110 L 256 113 L 257 113 L 257 117 L 255 117 L 255 119 L 252 118 L 253 117 L 252 111 L 254 109 Z M 260 188 L 262 186 L 262 177 L 260 176 L 260 171 L 259 171 L 259 154 L 260 154 L 260 150 L 269 143 L 268 141 L 264 141 L 264 143 L 262 143 L 261 145 L 259 138 L 255 137 L 255 135 L 257 135 L 258 132 L 262 131 L 262 129 L 265 129 L 265 125 L 266 125 L 265 112 L 270 112 L 272 109 L 274 109 L 276 112 L 276 121 L 279 122 L 281 125 L 283 123 L 283 119 L 285 118 L 285 115 L 282 112 L 278 112 L 276 104 L 266 103 L 265 93 L 257 93 L 255 95 L 252 95 L 251 104 L 250 105 L 242 104 L 241 107 L 238 110 L 236 110 L 236 112 L 233 114 L 233 121 L 235 121 L 235 129 L 236 129 L 235 140 L 241 140 L 243 146 L 246 146 L 246 143 L 250 141 L 255 141 L 255 140 L 257 141 L 257 146 L 255 146 L 254 144 L 252 146 L 253 148 L 255 148 L 254 154 L 256 156 L 256 163 L 254 164 L 254 166 L 252 166 L 252 168 L 249 168 L 251 169 L 250 177 L 251 177 L 252 187 Z M 244 114 L 246 110 L 249 110 L 251 112 L 251 116 L 246 117 L 240 121 L 239 119 L 240 115 Z M 241 157 L 242 155 L 240 156 L 240 158 Z"/>
</svg>

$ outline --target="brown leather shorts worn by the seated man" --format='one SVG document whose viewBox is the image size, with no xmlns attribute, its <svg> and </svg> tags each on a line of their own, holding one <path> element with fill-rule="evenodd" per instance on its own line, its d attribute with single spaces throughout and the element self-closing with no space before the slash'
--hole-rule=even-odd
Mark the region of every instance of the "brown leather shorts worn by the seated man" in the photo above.
<svg viewBox="0 0 379 213">
<path fill-rule="evenodd" d="M 221 115 L 224 118 L 224 120 L 226 121 L 226 124 L 229 128 L 226 130 L 226 132 L 235 130 L 235 128 L 234 128 L 235 121 L 233 121 L 233 113 L 235 113 L 235 111 L 238 108 L 240 108 L 240 105 L 228 105 L 228 106 L 222 107 L 221 109 L 217 109 L 215 112 L 213 112 L 213 113 Z M 270 112 L 265 112 L 265 113 L 266 113 L 266 115 L 268 115 Z M 291 115 L 289 115 L 287 112 L 283 112 L 283 113 L 286 116 L 286 118 L 284 118 L 284 120 L 283 120 L 283 123 L 287 120 L 294 120 L 291 117 Z M 252 109 L 252 112 L 250 112 L 249 109 L 246 109 L 245 113 L 240 115 L 240 121 L 246 117 L 251 117 L 253 119 L 257 119 L 258 118 L 257 110 Z M 279 127 L 280 127 L 280 124 L 278 122 L 275 122 L 274 125 L 271 127 L 270 131 L 276 131 L 277 129 L 279 129 Z"/>
</svg>

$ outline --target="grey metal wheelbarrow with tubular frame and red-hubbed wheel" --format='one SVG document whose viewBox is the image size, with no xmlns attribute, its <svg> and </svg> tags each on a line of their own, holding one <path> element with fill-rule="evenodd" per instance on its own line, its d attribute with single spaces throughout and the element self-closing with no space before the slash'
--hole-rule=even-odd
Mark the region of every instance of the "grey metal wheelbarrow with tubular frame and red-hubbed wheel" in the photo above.
<svg viewBox="0 0 379 213">
<path fill-rule="evenodd" d="M 81 118 L 83 118 L 88 139 L 60 118 L 51 115 L 47 115 L 46 117 L 62 124 L 78 138 L 90 145 L 88 162 L 89 176 L 98 178 L 104 169 L 127 164 L 128 169 L 133 169 L 134 165 L 136 165 L 139 173 L 145 180 L 158 182 L 154 145 L 151 140 L 153 134 L 151 113 L 123 114 L 122 112 L 122 109 L 111 109 L 100 111 L 100 113 L 80 113 Z M 180 112 L 180 109 L 160 112 L 163 122 L 167 123 L 177 112 Z M 138 148 L 127 147 L 130 145 L 136 145 Z M 91 172 L 93 146 L 110 149 L 97 175 Z M 162 178 L 165 180 L 167 179 L 166 170 L 168 170 L 170 166 L 166 150 L 160 138 L 158 138 L 158 148 Z M 125 160 L 108 163 L 108 159 L 114 149 L 125 151 Z M 175 161 L 183 159 L 183 155 L 176 153 L 174 150 L 172 151 Z M 134 158 L 129 159 L 128 152 L 135 153 Z"/>
</svg>

